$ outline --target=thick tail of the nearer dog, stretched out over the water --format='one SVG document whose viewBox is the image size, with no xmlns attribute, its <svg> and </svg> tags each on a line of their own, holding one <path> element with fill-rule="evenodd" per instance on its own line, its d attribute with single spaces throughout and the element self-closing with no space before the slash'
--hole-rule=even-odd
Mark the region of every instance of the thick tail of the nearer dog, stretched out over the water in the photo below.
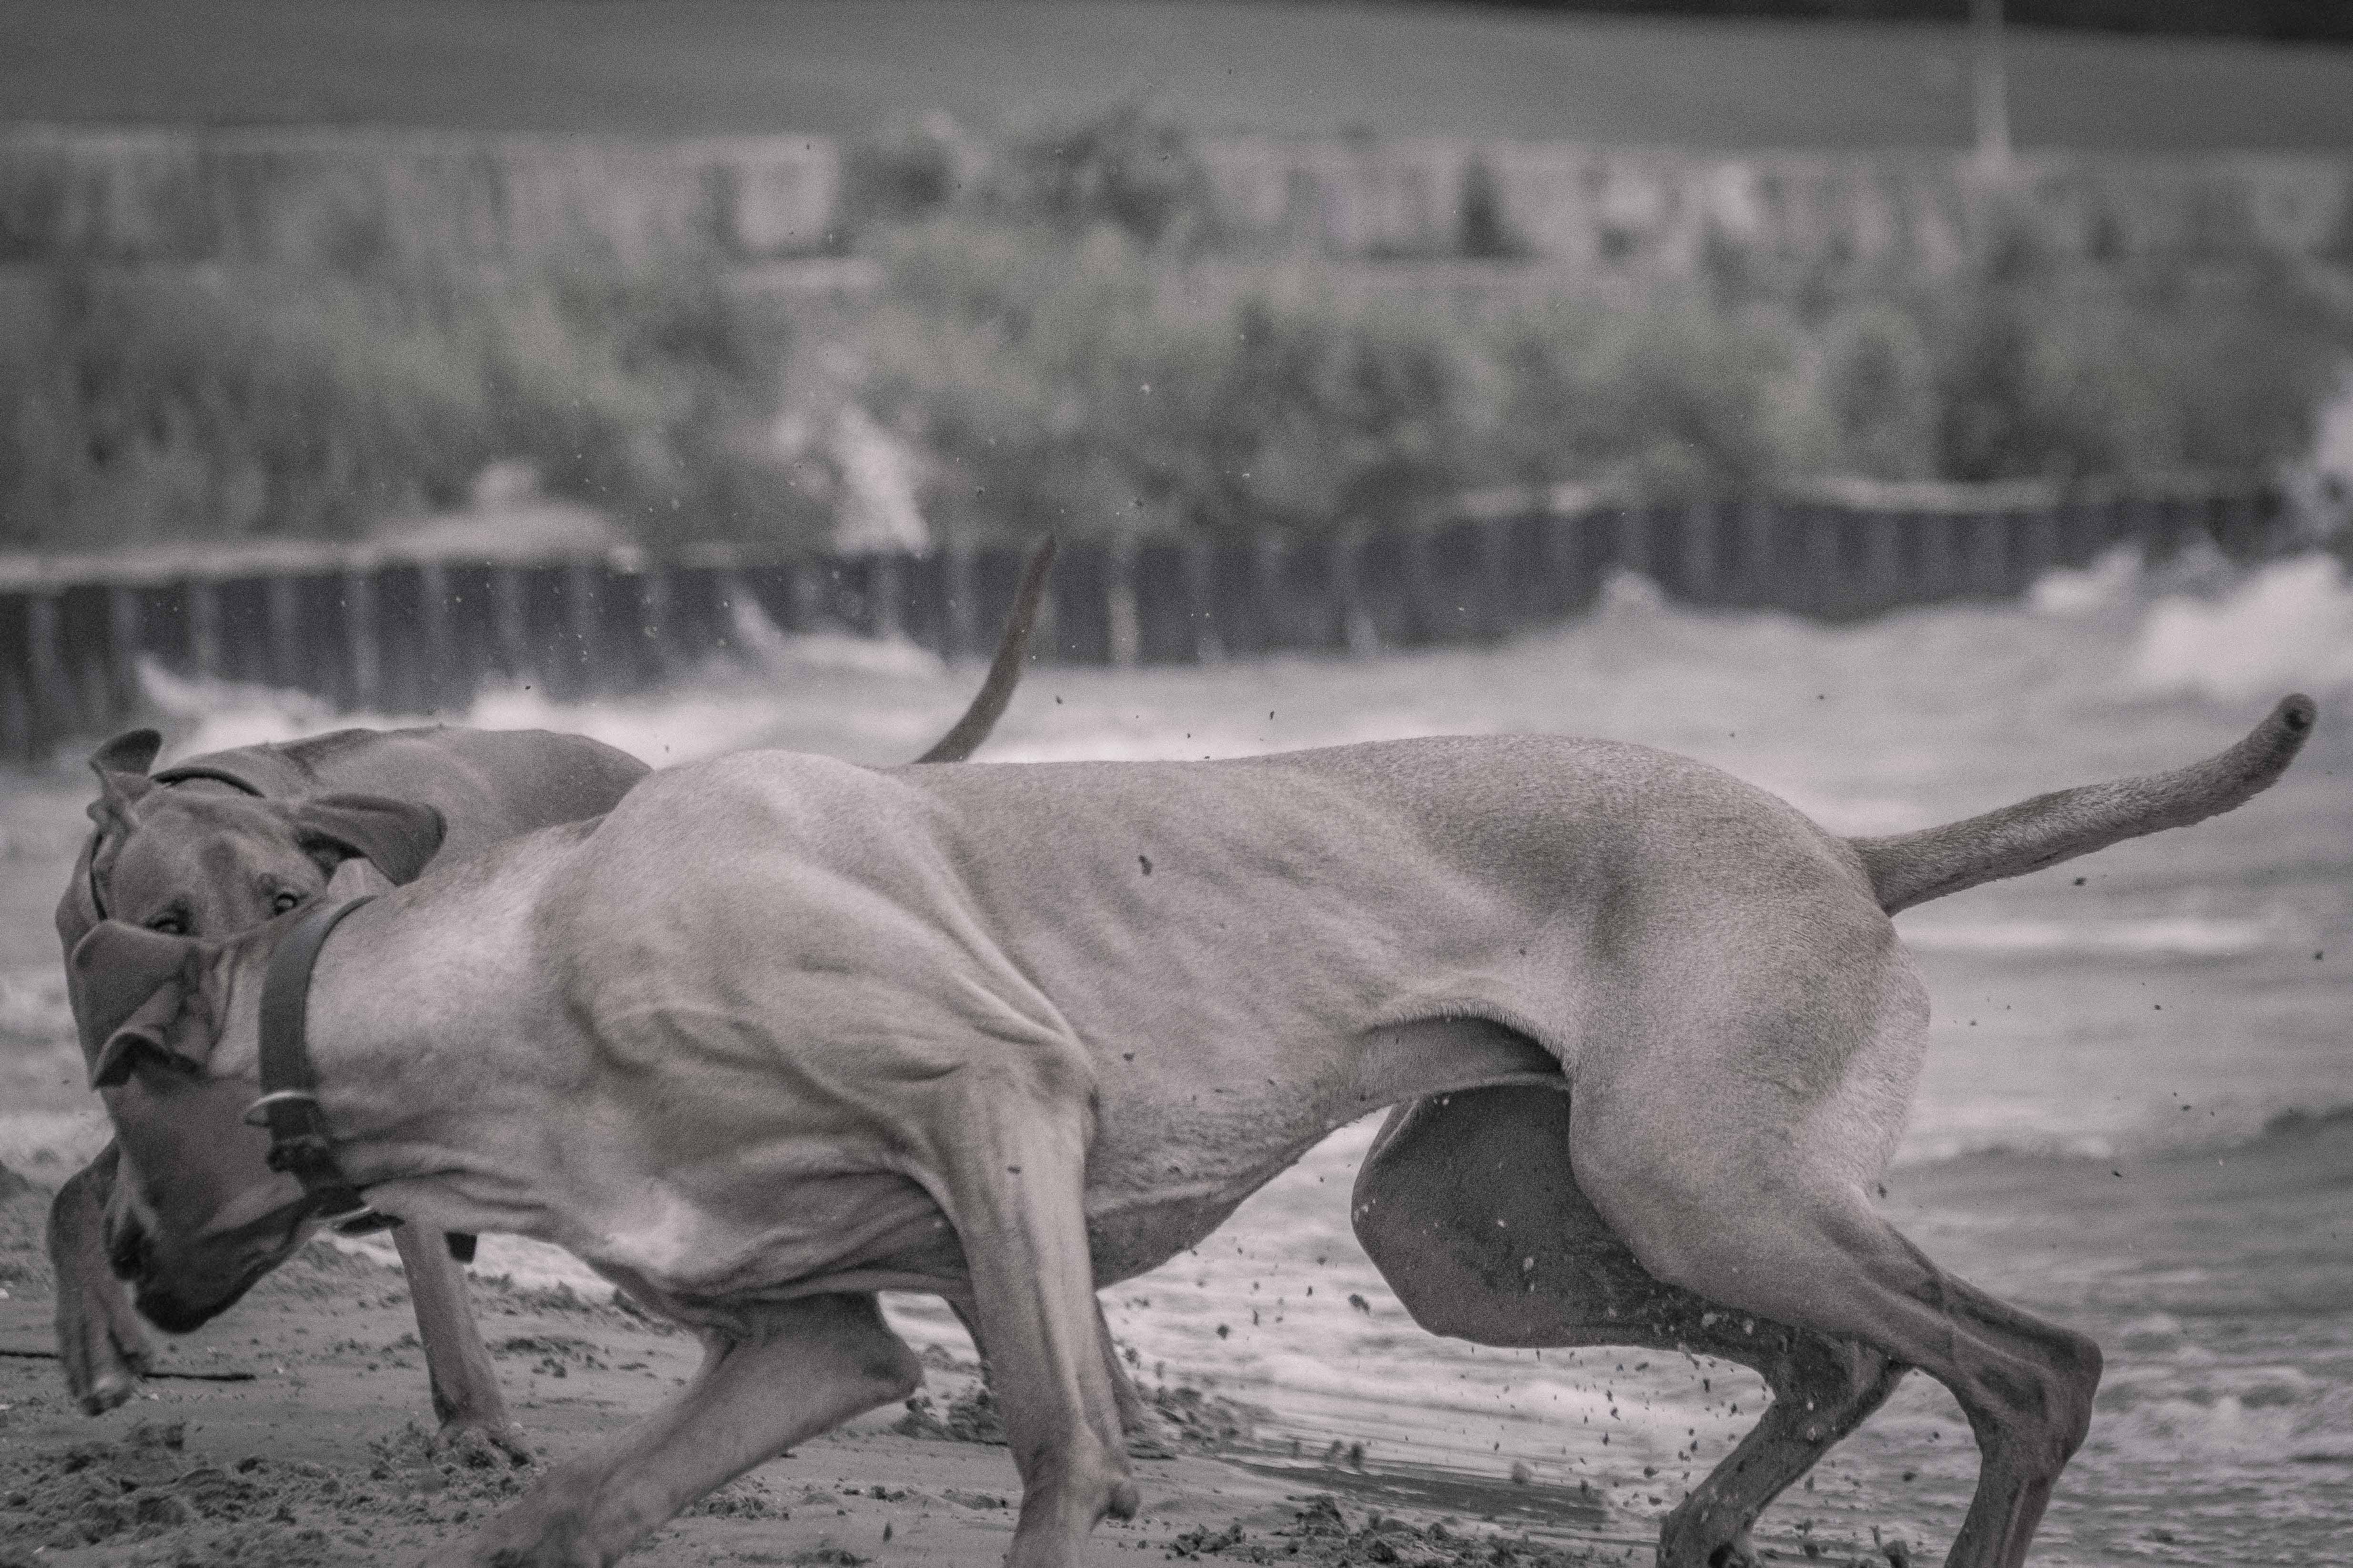
<svg viewBox="0 0 2353 1568">
<path fill-rule="evenodd" d="M 2144 832 L 2188 827 L 2254 799 L 2304 750 L 2315 712 L 2313 698 L 2285 696 L 2245 741 L 2186 769 L 2057 790 L 1944 827 L 1847 844 L 1864 858 L 1880 907 L 1894 914 Z"/>
</svg>

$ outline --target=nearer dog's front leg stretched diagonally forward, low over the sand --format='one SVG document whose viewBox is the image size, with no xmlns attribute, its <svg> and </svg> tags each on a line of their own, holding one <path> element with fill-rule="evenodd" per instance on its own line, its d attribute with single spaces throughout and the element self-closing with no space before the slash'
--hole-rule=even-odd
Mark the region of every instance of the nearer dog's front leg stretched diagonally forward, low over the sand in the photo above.
<svg viewBox="0 0 2353 1568">
<path fill-rule="evenodd" d="M 605 1568 L 715 1486 L 922 1382 L 873 1295 L 809 1295 L 769 1309 L 762 1328 L 760 1340 L 706 1340 L 678 1399 L 616 1443 L 553 1467 L 433 1563 Z"/>
</svg>

